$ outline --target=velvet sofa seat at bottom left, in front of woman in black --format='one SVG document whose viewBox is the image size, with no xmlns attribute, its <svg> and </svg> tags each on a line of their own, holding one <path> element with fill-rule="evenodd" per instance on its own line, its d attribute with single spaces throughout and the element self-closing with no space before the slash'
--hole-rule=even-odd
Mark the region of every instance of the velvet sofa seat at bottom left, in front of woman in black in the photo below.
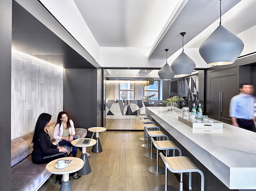
<svg viewBox="0 0 256 191">
<path fill-rule="evenodd" d="M 37 190 L 50 176 L 45 166 L 36 165 L 31 156 L 12 167 L 12 191 Z"/>
</svg>

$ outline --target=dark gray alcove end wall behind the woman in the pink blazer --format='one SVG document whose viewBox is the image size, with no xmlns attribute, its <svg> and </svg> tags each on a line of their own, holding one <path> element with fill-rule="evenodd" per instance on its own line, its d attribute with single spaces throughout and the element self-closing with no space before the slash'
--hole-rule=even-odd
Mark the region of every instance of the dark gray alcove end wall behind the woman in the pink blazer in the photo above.
<svg viewBox="0 0 256 191">
<path fill-rule="evenodd" d="M 102 126 L 102 73 L 99 70 L 64 69 L 63 110 L 76 128 Z"/>
</svg>

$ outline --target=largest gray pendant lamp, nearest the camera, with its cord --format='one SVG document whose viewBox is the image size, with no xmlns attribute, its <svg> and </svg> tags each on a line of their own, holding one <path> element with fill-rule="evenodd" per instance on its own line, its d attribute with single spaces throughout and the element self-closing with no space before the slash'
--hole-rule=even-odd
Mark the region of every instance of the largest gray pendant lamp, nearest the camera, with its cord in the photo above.
<svg viewBox="0 0 256 191">
<path fill-rule="evenodd" d="M 244 49 L 244 43 L 235 34 L 221 25 L 201 44 L 199 53 L 209 65 L 228 65 L 236 61 Z"/>
</svg>

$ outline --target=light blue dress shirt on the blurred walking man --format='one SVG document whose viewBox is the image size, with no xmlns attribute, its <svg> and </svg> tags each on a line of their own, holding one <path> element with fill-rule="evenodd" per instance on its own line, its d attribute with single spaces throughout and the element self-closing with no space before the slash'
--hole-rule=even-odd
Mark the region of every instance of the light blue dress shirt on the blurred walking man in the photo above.
<svg viewBox="0 0 256 191">
<path fill-rule="evenodd" d="M 237 119 L 253 119 L 254 97 L 239 93 L 230 101 L 229 116 Z"/>
</svg>

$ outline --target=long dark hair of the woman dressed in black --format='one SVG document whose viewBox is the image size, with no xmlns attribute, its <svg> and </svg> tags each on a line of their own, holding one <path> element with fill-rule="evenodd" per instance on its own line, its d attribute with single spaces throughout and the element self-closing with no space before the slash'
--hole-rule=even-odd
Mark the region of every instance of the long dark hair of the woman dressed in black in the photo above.
<svg viewBox="0 0 256 191">
<path fill-rule="evenodd" d="M 32 143 L 35 141 L 35 139 L 37 138 L 37 136 L 40 133 L 44 132 L 44 128 L 45 128 L 46 124 L 51 120 L 51 118 L 52 118 L 52 116 L 50 114 L 42 113 L 39 115 L 39 117 L 36 121 L 36 127 L 35 127 L 34 136 L 32 139 Z"/>
</svg>

